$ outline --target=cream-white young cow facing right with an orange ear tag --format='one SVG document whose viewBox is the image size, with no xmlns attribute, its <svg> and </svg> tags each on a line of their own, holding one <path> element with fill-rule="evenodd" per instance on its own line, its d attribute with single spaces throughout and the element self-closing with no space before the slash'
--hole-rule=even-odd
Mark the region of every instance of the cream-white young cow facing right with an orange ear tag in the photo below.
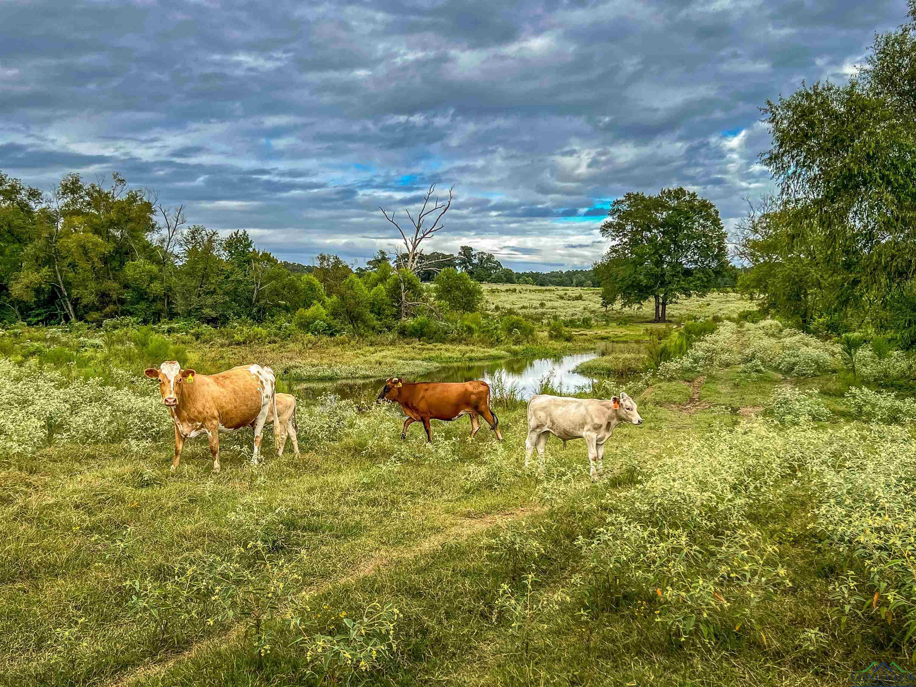
<svg viewBox="0 0 916 687">
<path fill-rule="evenodd" d="M 598 398 L 562 398 L 540 394 L 528 402 L 528 439 L 525 442 L 525 467 L 531 453 L 538 449 L 540 469 L 544 469 L 544 449 L 552 434 L 563 440 L 584 439 L 588 447 L 592 481 L 605 472 L 605 442 L 614 428 L 623 422 L 642 424 L 636 401 L 621 393 L 611 400 Z"/>
</svg>

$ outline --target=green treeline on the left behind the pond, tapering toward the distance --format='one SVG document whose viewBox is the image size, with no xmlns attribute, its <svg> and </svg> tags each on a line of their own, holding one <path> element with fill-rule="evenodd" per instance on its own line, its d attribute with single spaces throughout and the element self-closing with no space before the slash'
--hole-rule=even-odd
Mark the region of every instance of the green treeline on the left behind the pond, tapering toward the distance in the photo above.
<svg viewBox="0 0 916 687">
<path fill-rule="evenodd" d="M 416 274 L 385 251 L 355 269 L 327 254 L 281 262 L 245 231 L 190 224 L 117 174 L 107 185 L 70 174 L 48 195 L 0 172 L 0 249 L 0 322 L 29 324 L 282 319 L 319 333 L 371 330 L 476 311 L 475 282 L 597 284 L 592 270 L 517 273 L 471 246 L 424 256 Z M 421 286 L 442 273 L 436 288 Z"/>
</svg>

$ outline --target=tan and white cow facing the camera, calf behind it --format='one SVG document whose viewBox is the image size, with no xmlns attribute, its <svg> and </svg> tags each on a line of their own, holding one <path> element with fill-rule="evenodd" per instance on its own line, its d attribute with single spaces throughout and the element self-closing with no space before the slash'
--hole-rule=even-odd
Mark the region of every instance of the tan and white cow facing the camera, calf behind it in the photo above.
<svg viewBox="0 0 916 687">
<path fill-rule="evenodd" d="M 159 369 L 149 367 L 144 374 L 159 380 L 162 403 L 169 409 L 175 423 L 175 459 L 172 472 L 178 467 L 184 440 L 198 434 L 210 439 L 213 472 L 220 471 L 221 431 L 239 431 L 245 427 L 255 430 L 255 452 L 251 464 L 257 464 L 261 451 L 261 431 L 267 414 L 273 407 L 277 416 L 277 379 L 274 371 L 261 365 L 240 365 L 216 375 L 196 375 L 182 370 L 174 360 L 167 360 Z M 274 438 L 278 423 L 274 423 Z"/>
</svg>

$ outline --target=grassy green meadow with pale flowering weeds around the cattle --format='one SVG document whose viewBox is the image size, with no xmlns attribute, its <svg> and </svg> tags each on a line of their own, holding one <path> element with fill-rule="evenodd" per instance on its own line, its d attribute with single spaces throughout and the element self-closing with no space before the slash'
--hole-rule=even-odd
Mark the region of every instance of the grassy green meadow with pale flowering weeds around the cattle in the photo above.
<svg viewBox="0 0 916 687">
<path fill-rule="evenodd" d="M 668 329 L 648 310 L 486 289 L 491 309 L 580 326 L 505 350 L 3 333 L 0 684 L 815 685 L 911 667 L 909 357 L 862 350 L 854 377 L 836 344 L 713 294 L 671 319 L 722 322 L 647 372 L 638 356 Z M 267 433 L 251 467 L 250 435 L 226 435 L 223 472 L 196 440 L 170 474 L 168 415 L 139 376 L 162 353 L 377 376 L 598 349 L 632 364 L 599 364 L 610 376 L 581 393 L 626 388 L 644 424 L 618 428 L 597 485 L 583 442 L 523 467 L 511 388 L 494 399 L 503 443 L 466 421 L 401 441 L 398 409 L 324 398 L 300 406 L 300 456 Z"/>
</svg>

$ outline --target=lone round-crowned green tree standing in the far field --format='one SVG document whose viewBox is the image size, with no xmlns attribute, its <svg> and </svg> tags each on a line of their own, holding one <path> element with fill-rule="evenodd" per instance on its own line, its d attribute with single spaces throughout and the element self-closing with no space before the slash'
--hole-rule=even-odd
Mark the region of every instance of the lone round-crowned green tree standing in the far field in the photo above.
<svg viewBox="0 0 916 687">
<path fill-rule="evenodd" d="M 599 270 L 603 284 L 614 282 L 624 305 L 654 299 L 655 322 L 665 321 L 669 303 L 714 288 L 728 264 L 719 211 L 682 188 L 617 198 L 601 234 L 611 240 Z"/>
</svg>

